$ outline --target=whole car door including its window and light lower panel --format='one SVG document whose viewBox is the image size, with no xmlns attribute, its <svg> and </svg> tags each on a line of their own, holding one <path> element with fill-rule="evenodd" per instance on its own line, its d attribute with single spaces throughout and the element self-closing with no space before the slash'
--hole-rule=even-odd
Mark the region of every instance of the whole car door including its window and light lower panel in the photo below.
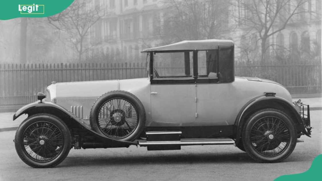
<svg viewBox="0 0 322 181">
<path fill-rule="evenodd" d="M 151 80 L 153 126 L 189 126 L 196 119 L 195 79 L 190 73 L 192 52 L 156 52 Z"/>
</svg>

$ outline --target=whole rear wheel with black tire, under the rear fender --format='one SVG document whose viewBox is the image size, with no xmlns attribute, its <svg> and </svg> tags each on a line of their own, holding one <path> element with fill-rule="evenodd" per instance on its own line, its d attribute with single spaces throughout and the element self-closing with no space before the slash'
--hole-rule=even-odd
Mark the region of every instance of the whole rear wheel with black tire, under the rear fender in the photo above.
<svg viewBox="0 0 322 181">
<path fill-rule="evenodd" d="M 242 132 L 246 152 L 259 162 L 274 163 L 294 150 L 297 134 L 294 122 L 284 112 L 263 109 L 247 119 Z"/>
</svg>

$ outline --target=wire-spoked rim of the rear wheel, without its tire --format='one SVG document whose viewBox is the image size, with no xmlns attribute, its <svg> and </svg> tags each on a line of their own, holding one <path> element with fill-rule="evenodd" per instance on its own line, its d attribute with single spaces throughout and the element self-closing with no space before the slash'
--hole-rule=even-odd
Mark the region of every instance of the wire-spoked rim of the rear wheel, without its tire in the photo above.
<svg viewBox="0 0 322 181">
<path fill-rule="evenodd" d="M 249 138 L 252 148 L 258 154 L 275 157 L 282 154 L 289 146 L 291 135 L 282 119 L 266 116 L 253 124 Z"/>
</svg>

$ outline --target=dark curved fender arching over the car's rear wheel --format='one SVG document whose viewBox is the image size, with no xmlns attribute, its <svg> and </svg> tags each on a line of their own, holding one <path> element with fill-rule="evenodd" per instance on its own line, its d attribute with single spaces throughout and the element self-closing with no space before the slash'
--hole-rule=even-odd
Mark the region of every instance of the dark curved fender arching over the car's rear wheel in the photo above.
<svg viewBox="0 0 322 181">
<path fill-rule="evenodd" d="M 254 112 L 265 108 L 283 109 L 287 111 L 289 116 L 296 124 L 296 129 L 309 136 L 308 132 L 306 131 L 303 125 L 303 121 L 300 115 L 298 114 L 298 111 L 289 101 L 277 96 L 259 96 L 247 102 L 237 115 L 237 118 L 235 120 L 236 145 L 238 145 L 240 141 L 242 129 L 247 118 Z"/>
</svg>

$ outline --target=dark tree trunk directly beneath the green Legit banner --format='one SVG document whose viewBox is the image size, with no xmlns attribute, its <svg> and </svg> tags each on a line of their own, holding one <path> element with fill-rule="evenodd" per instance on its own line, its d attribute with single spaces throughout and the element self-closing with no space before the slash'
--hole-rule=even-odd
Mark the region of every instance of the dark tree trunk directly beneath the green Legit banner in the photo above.
<svg viewBox="0 0 322 181">
<path fill-rule="evenodd" d="M 20 22 L 20 63 L 27 62 L 27 18 Z"/>
</svg>

